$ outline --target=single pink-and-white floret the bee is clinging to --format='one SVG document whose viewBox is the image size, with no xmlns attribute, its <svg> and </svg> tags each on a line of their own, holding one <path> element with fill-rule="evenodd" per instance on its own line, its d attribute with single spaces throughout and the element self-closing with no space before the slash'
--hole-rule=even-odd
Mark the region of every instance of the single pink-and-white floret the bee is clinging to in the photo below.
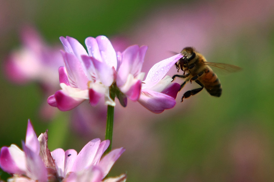
<svg viewBox="0 0 274 182">
<path fill-rule="evenodd" d="M 181 86 L 171 83 L 173 79 L 165 75 L 181 57 L 181 54 L 177 54 L 152 66 L 142 84 L 142 93 L 138 100 L 142 106 L 153 113 L 161 113 L 175 106 Z"/>
</svg>

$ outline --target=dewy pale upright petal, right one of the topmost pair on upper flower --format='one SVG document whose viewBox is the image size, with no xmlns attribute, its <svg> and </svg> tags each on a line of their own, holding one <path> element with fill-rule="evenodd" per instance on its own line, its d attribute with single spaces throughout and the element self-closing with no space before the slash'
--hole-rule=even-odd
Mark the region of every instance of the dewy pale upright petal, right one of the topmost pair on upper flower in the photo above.
<svg viewBox="0 0 274 182">
<path fill-rule="evenodd" d="M 109 67 L 117 68 L 116 52 L 113 49 L 111 42 L 106 36 L 100 35 L 96 37 L 98 47 L 101 53 L 102 61 Z"/>
</svg>

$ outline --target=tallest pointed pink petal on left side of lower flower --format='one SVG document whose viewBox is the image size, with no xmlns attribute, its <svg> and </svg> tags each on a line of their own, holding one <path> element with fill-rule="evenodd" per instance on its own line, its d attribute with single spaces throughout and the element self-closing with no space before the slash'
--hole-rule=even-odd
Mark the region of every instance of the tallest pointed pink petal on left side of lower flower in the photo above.
<svg viewBox="0 0 274 182">
<path fill-rule="evenodd" d="M 26 131 L 26 147 L 32 150 L 33 153 L 39 154 L 40 152 L 40 143 L 37 139 L 37 135 L 33 129 L 30 120 L 28 120 L 27 131 Z"/>
</svg>

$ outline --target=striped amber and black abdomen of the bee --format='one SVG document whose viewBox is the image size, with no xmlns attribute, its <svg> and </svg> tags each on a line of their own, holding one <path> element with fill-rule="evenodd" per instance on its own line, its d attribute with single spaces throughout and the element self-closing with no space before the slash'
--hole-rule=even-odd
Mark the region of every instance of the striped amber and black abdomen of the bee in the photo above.
<svg viewBox="0 0 274 182">
<path fill-rule="evenodd" d="M 222 85 L 217 75 L 210 68 L 206 68 L 205 73 L 199 77 L 199 81 L 205 86 L 206 91 L 216 97 L 222 94 Z"/>
</svg>

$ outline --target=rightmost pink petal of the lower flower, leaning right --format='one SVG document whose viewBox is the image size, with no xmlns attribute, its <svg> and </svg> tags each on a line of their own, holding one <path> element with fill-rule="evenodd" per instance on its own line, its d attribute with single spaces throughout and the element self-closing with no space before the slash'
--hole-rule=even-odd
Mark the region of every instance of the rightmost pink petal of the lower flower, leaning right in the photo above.
<svg viewBox="0 0 274 182">
<path fill-rule="evenodd" d="M 116 160 L 125 152 L 124 148 L 112 150 L 100 160 L 99 166 L 103 169 L 104 177 L 109 173 Z"/>
</svg>

